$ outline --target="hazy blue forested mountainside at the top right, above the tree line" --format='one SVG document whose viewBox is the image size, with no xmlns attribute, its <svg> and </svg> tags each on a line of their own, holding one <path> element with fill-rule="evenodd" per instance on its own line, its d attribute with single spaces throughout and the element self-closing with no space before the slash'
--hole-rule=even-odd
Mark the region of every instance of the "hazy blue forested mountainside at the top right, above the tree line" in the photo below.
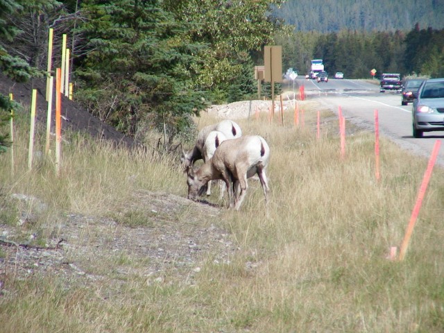
<svg viewBox="0 0 444 333">
<path fill-rule="evenodd" d="M 275 15 L 296 31 L 330 33 L 444 28 L 444 0 L 288 0 Z"/>
</svg>

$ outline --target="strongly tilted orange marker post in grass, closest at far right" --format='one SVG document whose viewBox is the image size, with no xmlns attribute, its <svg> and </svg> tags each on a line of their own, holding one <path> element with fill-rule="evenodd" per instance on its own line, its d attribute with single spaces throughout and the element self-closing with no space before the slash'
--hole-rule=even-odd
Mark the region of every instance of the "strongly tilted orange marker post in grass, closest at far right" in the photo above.
<svg viewBox="0 0 444 333">
<path fill-rule="evenodd" d="M 409 225 L 407 225 L 407 229 L 405 230 L 404 239 L 402 240 L 400 248 L 400 260 L 404 260 L 405 253 L 407 252 L 407 248 L 409 247 L 411 234 L 413 233 L 413 228 L 415 227 L 416 219 L 418 218 L 418 214 L 421 209 L 422 200 L 424 199 L 425 191 L 427 190 L 427 185 L 429 185 L 429 180 L 432 176 L 433 167 L 436 162 L 436 157 L 438 156 L 440 146 L 441 140 L 436 140 L 432 155 L 429 159 L 429 164 L 427 165 L 427 170 L 425 171 L 424 177 L 422 178 L 422 184 L 418 191 L 418 197 L 416 198 L 415 207 L 413 207 L 413 211 L 411 212 Z"/>
</svg>

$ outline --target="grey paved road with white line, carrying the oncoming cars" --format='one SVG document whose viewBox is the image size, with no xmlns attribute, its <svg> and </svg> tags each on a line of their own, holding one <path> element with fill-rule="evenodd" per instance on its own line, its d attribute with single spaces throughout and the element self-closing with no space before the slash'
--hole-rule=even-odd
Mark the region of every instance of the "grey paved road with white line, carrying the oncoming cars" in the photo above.
<svg viewBox="0 0 444 333">
<path fill-rule="evenodd" d="M 287 87 L 293 85 L 287 83 Z M 339 105 L 348 121 L 374 129 L 375 110 L 378 110 L 379 133 L 390 138 L 402 148 L 429 158 L 437 139 L 444 139 L 444 132 L 424 133 L 421 139 L 412 135 L 411 104 L 402 106 L 397 92 L 379 92 L 379 86 L 366 80 L 334 80 L 317 83 L 300 78 L 295 87 L 304 85 L 307 99 L 316 99 L 330 110 L 337 112 Z M 284 83 L 284 88 L 287 88 Z M 291 87 L 292 88 L 292 87 Z M 444 145 L 438 154 L 438 164 L 444 166 Z"/>
</svg>

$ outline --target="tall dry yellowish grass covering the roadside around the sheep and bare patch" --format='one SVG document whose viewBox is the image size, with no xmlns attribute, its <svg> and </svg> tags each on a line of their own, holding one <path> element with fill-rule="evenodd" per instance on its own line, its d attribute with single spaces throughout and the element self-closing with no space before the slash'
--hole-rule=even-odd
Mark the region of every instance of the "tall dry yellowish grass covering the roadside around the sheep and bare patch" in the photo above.
<svg viewBox="0 0 444 333">
<path fill-rule="evenodd" d="M 427 160 L 382 139 L 377 182 L 373 134 L 348 125 L 342 158 L 330 112 L 321 110 L 316 139 L 316 108 L 305 104 L 303 128 L 294 128 L 292 114 L 285 114 L 285 126 L 277 118 L 268 123 L 266 115 L 238 121 L 244 135 L 262 135 L 271 147 L 270 202 L 266 207 L 259 183 L 250 180 L 240 212 L 224 210 L 214 221 L 239 250 L 224 263 L 203 255 L 195 285 L 147 284 L 135 274 L 104 299 L 107 281 L 66 289 L 52 275 L 10 278 L 15 293 L 0 298 L 2 331 L 443 332 L 443 170 L 434 169 L 406 259 L 389 261 Z M 203 127 L 216 120 L 204 114 L 199 121 Z M 8 155 L 0 155 L 1 194 L 28 194 L 50 205 L 40 223 L 56 228 L 61 212 L 106 214 L 137 189 L 185 196 L 177 157 L 71 136 L 56 178 L 50 158 L 26 169 L 23 138 L 15 176 Z M 218 203 L 217 196 L 209 200 Z"/>
</svg>

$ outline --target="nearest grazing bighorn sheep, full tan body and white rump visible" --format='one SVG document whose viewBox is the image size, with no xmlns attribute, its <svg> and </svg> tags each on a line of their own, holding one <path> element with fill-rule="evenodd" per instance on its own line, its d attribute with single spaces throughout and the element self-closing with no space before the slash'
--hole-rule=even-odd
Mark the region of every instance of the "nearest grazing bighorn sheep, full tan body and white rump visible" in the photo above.
<svg viewBox="0 0 444 333">
<path fill-rule="evenodd" d="M 225 140 L 200 169 L 187 168 L 188 198 L 196 200 L 205 191 L 207 182 L 221 179 L 228 189 L 229 207 L 239 210 L 248 189 L 247 178 L 257 174 L 268 200 L 266 167 L 270 158 L 270 147 L 259 135 L 246 135 Z M 240 193 L 234 193 L 239 185 Z M 237 191 L 236 191 L 237 192 Z"/>
</svg>

